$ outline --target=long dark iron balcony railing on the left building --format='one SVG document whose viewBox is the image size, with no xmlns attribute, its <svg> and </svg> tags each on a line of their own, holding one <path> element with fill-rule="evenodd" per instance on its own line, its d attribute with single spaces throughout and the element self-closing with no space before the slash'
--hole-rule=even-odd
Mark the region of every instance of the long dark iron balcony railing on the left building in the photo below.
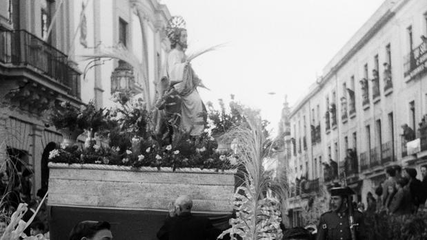
<svg viewBox="0 0 427 240">
<path fill-rule="evenodd" d="M 80 98 L 80 74 L 68 65 L 68 56 L 26 30 L 0 29 L 0 63 L 34 67 Z"/>
</svg>

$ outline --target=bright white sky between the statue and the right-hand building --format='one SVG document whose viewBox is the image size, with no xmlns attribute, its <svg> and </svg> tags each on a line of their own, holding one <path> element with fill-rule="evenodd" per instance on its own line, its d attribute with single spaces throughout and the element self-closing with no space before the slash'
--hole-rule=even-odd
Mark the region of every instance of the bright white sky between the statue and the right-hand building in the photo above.
<svg viewBox="0 0 427 240">
<path fill-rule="evenodd" d="M 277 129 L 285 94 L 295 104 L 384 0 L 162 0 L 187 23 L 189 51 L 226 47 L 192 65 L 203 101 L 261 109 Z M 268 94 L 275 92 L 275 95 Z"/>
</svg>

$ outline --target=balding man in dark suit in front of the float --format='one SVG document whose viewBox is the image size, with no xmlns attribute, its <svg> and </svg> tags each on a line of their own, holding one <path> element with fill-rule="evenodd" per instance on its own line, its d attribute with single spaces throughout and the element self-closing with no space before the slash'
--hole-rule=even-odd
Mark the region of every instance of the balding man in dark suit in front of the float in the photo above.
<svg viewBox="0 0 427 240">
<path fill-rule="evenodd" d="M 207 217 L 191 214 L 192 199 L 183 195 L 175 204 L 170 204 L 169 215 L 159 232 L 160 240 L 206 240 L 216 239 L 218 232 Z"/>
</svg>

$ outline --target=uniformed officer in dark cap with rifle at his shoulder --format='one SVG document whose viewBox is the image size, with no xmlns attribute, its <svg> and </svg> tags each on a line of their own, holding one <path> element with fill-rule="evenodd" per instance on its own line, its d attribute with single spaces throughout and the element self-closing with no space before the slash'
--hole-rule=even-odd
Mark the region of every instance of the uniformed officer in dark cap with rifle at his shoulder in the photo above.
<svg viewBox="0 0 427 240">
<path fill-rule="evenodd" d="M 352 240 L 349 223 L 348 196 L 354 194 L 351 188 L 332 188 L 330 203 L 332 210 L 320 216 L 317 240 Z M 356 239 L 366 239 L 364 215 L 354 210 Z"/>
</svg>

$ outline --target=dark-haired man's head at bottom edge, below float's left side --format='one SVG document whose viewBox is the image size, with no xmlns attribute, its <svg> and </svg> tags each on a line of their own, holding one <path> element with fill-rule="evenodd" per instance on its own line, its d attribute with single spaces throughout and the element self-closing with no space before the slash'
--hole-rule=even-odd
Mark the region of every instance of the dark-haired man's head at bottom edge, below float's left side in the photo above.
<svg viewBox="0 0 427 240">
<path fill-rule="evenodd" d="M 111 240 L 110 223 L 106 221 L 81 221 L 72 228 L 69 240 Z"/>
</svg>

